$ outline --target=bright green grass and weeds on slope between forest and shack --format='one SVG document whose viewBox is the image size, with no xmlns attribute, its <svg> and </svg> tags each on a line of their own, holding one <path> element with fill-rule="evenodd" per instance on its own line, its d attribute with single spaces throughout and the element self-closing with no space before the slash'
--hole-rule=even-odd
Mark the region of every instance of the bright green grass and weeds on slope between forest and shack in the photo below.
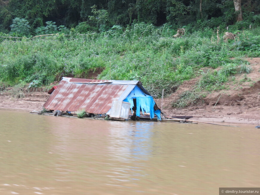
<svg viewBox="0 0 260 195">
<path fill-rule="evenodd" d="M 248 72 L 250 68 L 246 68 L 245 62 L 241 64 L 230 57 L 258 55 L 259 50 L 250 45 L 256 42 L 247 41 L 246 35 L 258 40 L 259 29 L 245 30 L 245 38 L 240 36 L 239 45 L 222 40 L 217 44 L 214 30 L 186 33 L 182 38 L 174 39 L 172 35 L 176 30 L 144 23 L 127 27 L 124 31 L 113 27 L 104 33 L 84 36 L 2 40 L 0 82 L 16 85 L 22 81 L 36 81 L 49 85 L 62 76 L 88 78 L 90 72 L 99 68 L 103 72 L 98 79 L 141 80 L 153 95 L 160 97 L 163 88 L 166 94 L 173 92 L 184 80 L 198 76 L 202 67 L 222 67 L 222 72 L 205 74 L 201 86 L 213 83 L 212 80 L 226 82 L 230 64 L 241 66 L 241 71 L 236 69 L 238 73 Z M 241 49 L 244 45 L 247 49 Z"/>
</svg>

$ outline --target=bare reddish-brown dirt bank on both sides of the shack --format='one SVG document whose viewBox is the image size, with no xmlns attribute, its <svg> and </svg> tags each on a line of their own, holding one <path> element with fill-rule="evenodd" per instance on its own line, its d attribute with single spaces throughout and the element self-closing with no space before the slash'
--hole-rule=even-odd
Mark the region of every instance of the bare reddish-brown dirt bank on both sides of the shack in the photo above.
<svg viewBox="0 0 260 195">
<path fill-rule="evenodd" d="M 244 75 L 238 76 L 235 81 L 226 84 L 228 85 L 227 89 L 210 93 L 198 105 L 188 108 L 174 108 L 172 102 L 183 91 L 191 89 L 198 78 L 186 81 L 175 93 L 163 99 L 163 112 L 167 116 L 193 116 L 193 120 L 200 121 L 260 125 L 260 58 L 247 60 L 253 71 L 247 74 L 246 81 L 243 80 Z M 0 93 L 0 109 L 39 111 L 42 110 L 42 106 L 49 96 L 48 93 L 39 88 L 31 92 L 25 91 L 23 98 L 14 98 L 10 90 L 6 89 Z M 155 102 L 161 108 L 161 99 L 155 99 Z"/>
</svg>

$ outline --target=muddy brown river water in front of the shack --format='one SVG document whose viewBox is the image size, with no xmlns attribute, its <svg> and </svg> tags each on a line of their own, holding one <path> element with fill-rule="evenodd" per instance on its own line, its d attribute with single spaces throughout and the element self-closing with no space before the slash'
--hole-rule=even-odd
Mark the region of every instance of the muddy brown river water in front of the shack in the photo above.
<svg viewBox="0 0 260 195">
<path fill-rule="evenodd" d="M 0 194 L 218 194 L 260 187 L 260 130 L 0 110 Z"/>
</svg>

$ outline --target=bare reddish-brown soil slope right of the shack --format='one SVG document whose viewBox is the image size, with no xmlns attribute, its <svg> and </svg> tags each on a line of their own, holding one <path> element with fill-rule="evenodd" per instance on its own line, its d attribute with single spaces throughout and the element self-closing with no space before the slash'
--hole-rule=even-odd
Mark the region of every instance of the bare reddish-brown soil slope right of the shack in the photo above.
<svg viewBox="0 0 260 195">
<path fill-rule="evenodd" d="M 228 89 L 210 93 L 203 99 L 203 103 L 185 109 L 174 108 L 172 101 L 183 91 L 191 89 L 198 78 L 183 82 L 175 93 L 163 100 L 164 113 L 167 116 L 189 115 L 194 117 L 192 119 L 203 121 L 260 124 L 260 58 L 246 60 L 253 68 L 246 75 L 247 79 L 241 74 L 235 81 L 226 84 Z M 161 99 L 157 99 L 156 103 L 161 108 Z"/>
</svg>

